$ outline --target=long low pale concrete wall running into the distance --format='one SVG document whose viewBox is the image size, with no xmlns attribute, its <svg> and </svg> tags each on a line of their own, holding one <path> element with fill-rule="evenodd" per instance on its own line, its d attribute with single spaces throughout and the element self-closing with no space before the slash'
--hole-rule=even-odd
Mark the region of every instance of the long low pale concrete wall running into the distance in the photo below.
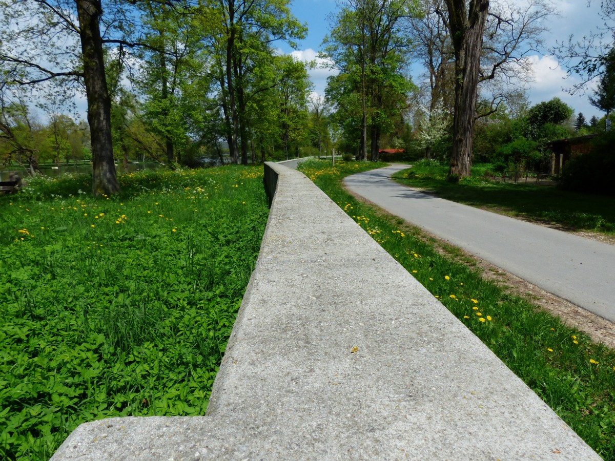
<svg viewBox="0 0 615 461">
<path fill-rule="evenodd" d="M 204 417 L 80 425 L 66 459 L 600 459 L 298 171 Z"/>
</svg>

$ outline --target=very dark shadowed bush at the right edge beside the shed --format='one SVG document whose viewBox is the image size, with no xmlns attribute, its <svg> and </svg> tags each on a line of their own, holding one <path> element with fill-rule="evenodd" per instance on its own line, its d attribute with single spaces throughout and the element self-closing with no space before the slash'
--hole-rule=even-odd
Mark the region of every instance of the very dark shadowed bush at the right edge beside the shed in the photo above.
<svg viewBox="0 0 615 461">
<path fill-rule="evenodd" d="M 592 150 L 571 158 L 561 171 L 560 187 L 568 191 L 615 195 L 615 132 L 604 133 L 592 142 Z"/>
</svg>

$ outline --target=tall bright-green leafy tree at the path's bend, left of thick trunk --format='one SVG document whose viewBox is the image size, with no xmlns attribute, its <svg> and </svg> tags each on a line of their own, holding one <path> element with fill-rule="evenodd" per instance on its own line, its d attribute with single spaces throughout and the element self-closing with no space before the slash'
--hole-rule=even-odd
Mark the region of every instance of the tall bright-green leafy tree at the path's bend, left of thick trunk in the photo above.
<svg viewBox="0 0 615 461">
<path fill-rule="evenodd" d="M 378 159 L 381 135 L 391 132 L 413 89 L 404 72 L 411 42 L 402 25 L 414 10 L 402 0 L 347 0 L 323 42 L 322 57 L 339 70 L 327 98 L 341 111 L 335 118 L 346 132 L 358 135 L 360 159 L 367 159 L 368 140 L 371 159 Z"/>
</svg>

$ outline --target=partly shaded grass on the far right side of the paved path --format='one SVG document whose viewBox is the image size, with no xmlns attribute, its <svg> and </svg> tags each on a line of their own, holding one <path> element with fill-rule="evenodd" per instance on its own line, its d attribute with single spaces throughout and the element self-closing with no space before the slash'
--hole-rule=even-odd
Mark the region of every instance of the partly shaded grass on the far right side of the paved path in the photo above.
<svg viewBox="0 0 615 461">
<path fill-rule="evenodd" d="M 615 236 L 613 197 L 562 191 L 555 186 L 537 186 L 531 178 L 527 183 L 489 181 L 483 175 L 490 166 L 474 165 L 470 178 L 454 184 L 446 181 L 448 166 L 419 160 L 410 170 L 395 173 L 393 179 L 472 207 L 554 223 L 571 230 L 589 230 Z"/>
</svg>

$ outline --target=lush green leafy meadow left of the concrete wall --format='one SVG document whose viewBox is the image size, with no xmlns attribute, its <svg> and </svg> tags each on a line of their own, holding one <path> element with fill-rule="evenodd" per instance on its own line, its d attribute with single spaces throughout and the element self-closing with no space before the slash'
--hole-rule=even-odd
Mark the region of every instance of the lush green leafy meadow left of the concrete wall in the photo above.
<svg viewBox="0 0 615 461">
<path fill-rule="evenodd" d="M 84 177 L 0 197 L 0 458 L 82 422 L 202 415 L 268 216 L 262 167 Z"/>
</svg>

